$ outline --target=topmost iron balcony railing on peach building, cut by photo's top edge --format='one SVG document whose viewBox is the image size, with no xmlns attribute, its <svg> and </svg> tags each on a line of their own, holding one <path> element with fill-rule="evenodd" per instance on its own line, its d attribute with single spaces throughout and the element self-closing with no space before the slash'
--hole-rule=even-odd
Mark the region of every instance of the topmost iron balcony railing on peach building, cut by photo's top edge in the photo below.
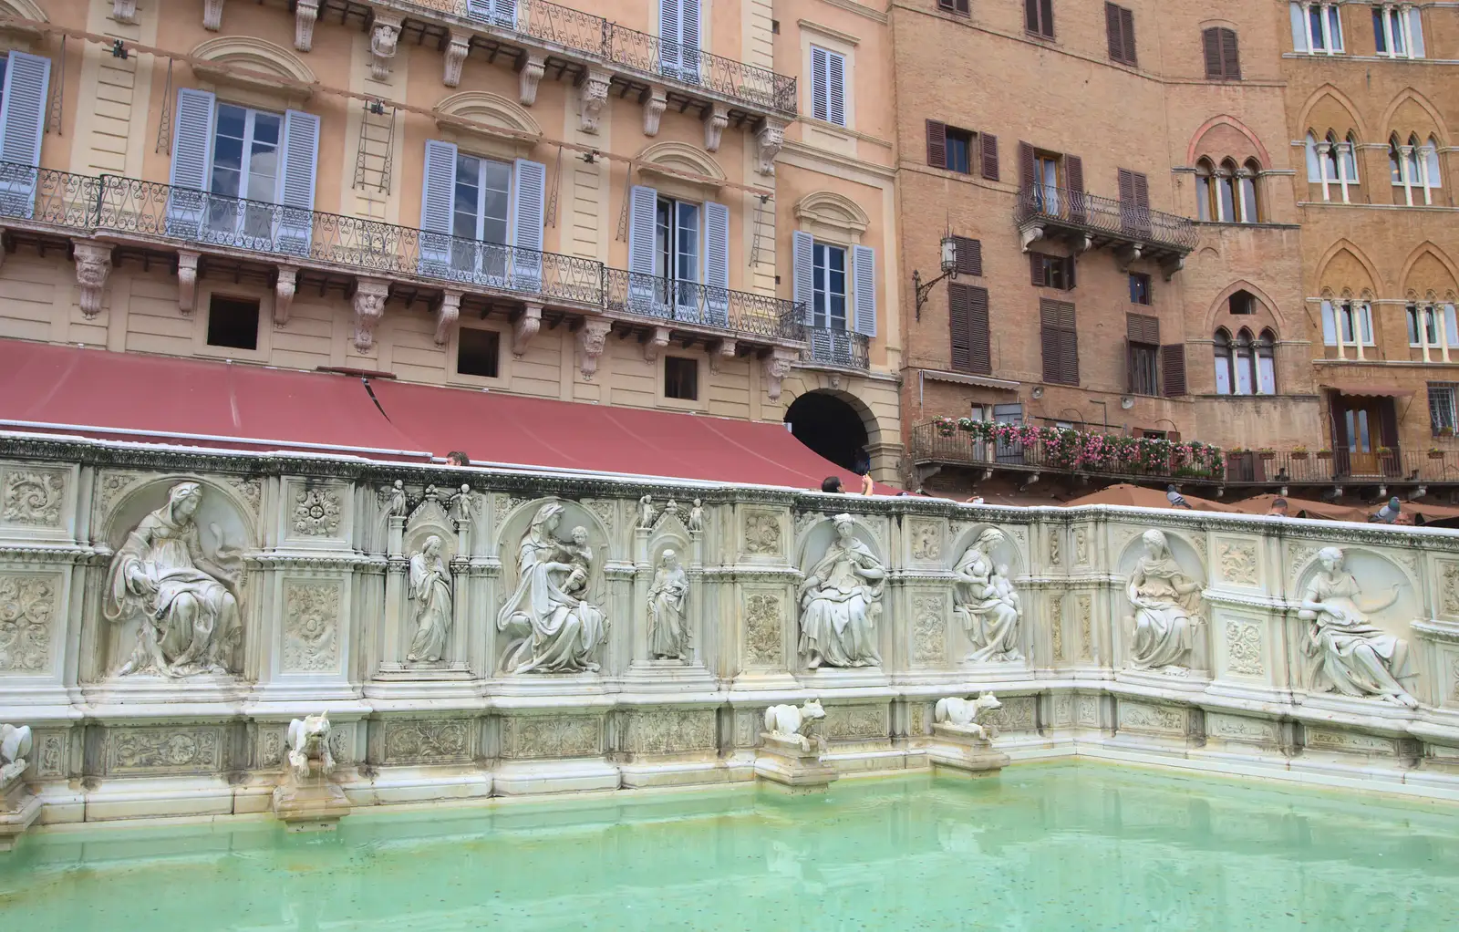
<svg viewBox="0 0 1459 932">
<path fill-rule="evenodd" d="M 404 0 L 403 6 L 460 16 L 617 64 L 648 79 L 696 85 L 757 109 L 795 118 L 795 79 L 788 74 L 670 42 L 547 0 L 516 0 L 515 10 L 512 3 L 467 0 Z"/>
</svg>

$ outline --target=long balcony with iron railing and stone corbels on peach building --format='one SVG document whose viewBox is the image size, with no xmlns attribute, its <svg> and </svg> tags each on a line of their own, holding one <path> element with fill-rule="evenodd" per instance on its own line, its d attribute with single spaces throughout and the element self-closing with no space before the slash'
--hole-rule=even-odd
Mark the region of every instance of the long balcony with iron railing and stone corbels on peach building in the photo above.
<svg viewBox="0 0 1459 932">
<path fill-rule="evenodd" d="M 137 263 L 177 271 L 182 312 L 193 309 L 197 281 L 207 276 L 273 287 L 276 327 L 287 325 L 301 289 L 349 296 L 362 353 L 391 300 L 432 308 L 441 344 L 463 312 L 506 315 L 514 352 L 525 350 L 544 324 L 568 325 L 582 341 L 585 375 L 611 333 L 636 337 L 649 357 L 670 343 L 702 344 L 722 357 L 756 356 L 773 392 L 788 360 L 804 349 L 800 309 L 779 298 L 118 175 L 0 163 L 0 228 L 10 248 L 73 254 L 88 317 L 101 311 L 112 265 Z"/>
</svg>

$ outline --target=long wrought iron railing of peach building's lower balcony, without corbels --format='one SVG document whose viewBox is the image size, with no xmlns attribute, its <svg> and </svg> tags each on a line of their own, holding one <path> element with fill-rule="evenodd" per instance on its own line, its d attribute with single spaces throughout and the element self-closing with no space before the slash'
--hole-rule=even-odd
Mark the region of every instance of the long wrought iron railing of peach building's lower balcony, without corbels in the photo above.
<svg viewBox="0 0 1459 932">
<path fill-rule="evenodd" d="M 800 308 L 781 298 L 665 281 L 575 255 L 118 175 L 73 175 L 0 162 L 0 223 L 4 219 L 83 236 L 257 254 L 341 274 L 505 292 L 522 300 L 654 317 L 765 340 L 805 338 Z"/>
</svg>

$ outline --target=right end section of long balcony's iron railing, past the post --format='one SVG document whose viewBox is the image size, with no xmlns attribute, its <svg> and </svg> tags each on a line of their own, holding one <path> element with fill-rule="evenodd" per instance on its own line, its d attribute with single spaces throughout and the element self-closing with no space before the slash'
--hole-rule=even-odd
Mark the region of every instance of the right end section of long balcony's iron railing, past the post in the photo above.
<svg viewBox="0 0 1459 932">
<path fill-rule="evenodd" d="M 804 338 L 800 311 L 782 298 L 622 268 L 604 270 L 604 306 L 614 314 L 636 314 L 665 322 L 700 324 L 781 340 Z"/>
</svg>

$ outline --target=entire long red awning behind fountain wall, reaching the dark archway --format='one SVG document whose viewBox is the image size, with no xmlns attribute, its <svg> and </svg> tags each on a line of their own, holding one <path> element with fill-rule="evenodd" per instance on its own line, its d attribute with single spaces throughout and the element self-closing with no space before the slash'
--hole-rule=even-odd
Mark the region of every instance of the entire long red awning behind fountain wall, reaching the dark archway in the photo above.
<svg viewBox="0 0 1459 932">
<path fill-rule="evenodd" d="M 781 423 L 0 340 L 0 429 L 820 489 Z M 893 490 L 878 487 L 881 493 Z"/>
</svg>

